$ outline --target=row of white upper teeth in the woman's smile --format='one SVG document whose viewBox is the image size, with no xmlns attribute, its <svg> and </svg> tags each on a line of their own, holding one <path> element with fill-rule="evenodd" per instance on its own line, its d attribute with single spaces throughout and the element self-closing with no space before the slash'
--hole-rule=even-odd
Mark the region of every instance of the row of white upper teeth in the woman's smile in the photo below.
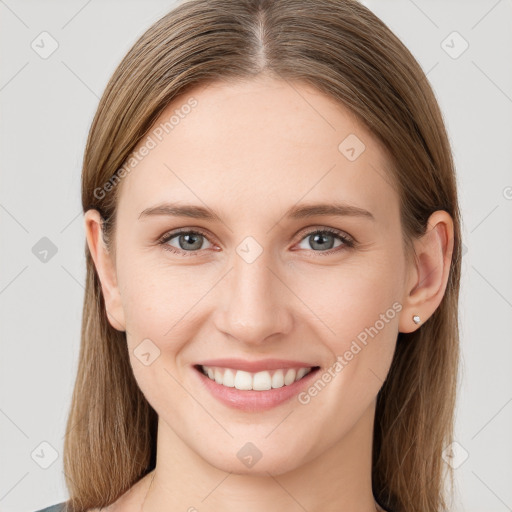
<svg viewBox="0 0 512 512">
<path fill-rule="evenodd" d="M 202 366 L 202 372 L 217 384 L 240 390 L 264 391 L 289 386 L 307 375 L 311 368 L 288 368 L 257 373 Z"/>
</svg>

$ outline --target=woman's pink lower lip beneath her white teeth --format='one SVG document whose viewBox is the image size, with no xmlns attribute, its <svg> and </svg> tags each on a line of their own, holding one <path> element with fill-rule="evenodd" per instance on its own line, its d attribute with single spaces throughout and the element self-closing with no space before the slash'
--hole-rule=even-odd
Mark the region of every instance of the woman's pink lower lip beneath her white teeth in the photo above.
<svg viewBox="0 0 512 512">
<path fill-rule="evenodd" d="M 229 388 L 210 379 L 196 367 L 193 367 L 193 370 L 199 376 L 206 389 L 223 404 L 243 411 L 257 412 L 277 407 L 299 394 L 316 376 L 319 368 L 311 370 L 306 376 L 302 377 L 302 379 L 295 381 L 289 386 L 272 388 L 265 391 L 244 391 Z"/>
</svg>

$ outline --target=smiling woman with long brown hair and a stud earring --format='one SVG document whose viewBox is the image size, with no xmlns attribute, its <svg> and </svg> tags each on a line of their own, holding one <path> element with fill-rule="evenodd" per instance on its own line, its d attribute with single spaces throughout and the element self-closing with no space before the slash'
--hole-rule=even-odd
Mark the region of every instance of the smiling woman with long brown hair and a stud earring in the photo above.
<svg viewBox="0 0 512 512">
<path fill-rule="evenodd" d="M 100 101 L 47 510 L 447 510 L 460 214 L 435 96 L 352 0 L 190 0 Z"/>
</svg>

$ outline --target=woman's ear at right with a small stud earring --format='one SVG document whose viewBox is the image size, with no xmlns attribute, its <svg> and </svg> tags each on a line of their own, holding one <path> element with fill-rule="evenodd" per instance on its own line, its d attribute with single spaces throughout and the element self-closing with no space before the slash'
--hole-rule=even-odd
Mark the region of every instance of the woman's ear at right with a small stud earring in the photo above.
<svg viewBox="0 0 512 512">
<path fill-rule="evenodd" d="M 399 332 L 418 329 L 437 309 L 446 290 L 453 253 L 453 220 L 438 210 L 428 220 L 425 234 L 414 240 L 414 261 L 409 265 Z M 413 316 L 418 315 L 416 324 Z"/>
</svg>

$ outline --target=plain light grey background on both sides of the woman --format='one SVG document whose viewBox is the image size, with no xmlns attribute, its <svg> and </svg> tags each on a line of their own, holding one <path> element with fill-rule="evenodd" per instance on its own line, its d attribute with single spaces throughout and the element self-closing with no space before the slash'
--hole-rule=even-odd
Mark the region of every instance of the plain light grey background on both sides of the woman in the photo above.
<svg viewBox="0 0 512 512">
<path fill-rule="evenodd" d="M 457 466 L 453 510 L 512 510 L 512 2 L 364 3 L 428 72 L 458 170 L 466 252 L 460 445 L 447 458 Z M 116 65 L 172 6 L 0 0 L 2 512 L 68 498 L 61 454 L 84 291 L 86 136 Z M 31 47 L 35 41 L 42 51 L 43 31 L 58 43 L 46 59 Z M 464 41 L 469 47 L 457 56 Z M 50 44 L 45 39 L 46 50 Z M 33 252 L 43 237 L 57 249 L 46 263 Z M 42 442 L 57 451 L 47 469 L 41 464 L 51 461 L 52 449 Z"/>
</svg>

